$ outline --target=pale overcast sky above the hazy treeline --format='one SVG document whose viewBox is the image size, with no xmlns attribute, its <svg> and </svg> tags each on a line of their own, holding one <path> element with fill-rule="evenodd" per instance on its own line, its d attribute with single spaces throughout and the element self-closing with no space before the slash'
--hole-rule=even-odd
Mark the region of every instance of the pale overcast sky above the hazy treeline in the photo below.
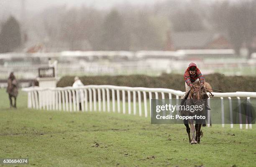
<svg viewBox="0 0 256 167">
<path fill-rule="evenodd" d="M 110 9 L 119 4 L 152 5 L 166 0 L 0 0 L 0 20 L 9 15 L 20 18 L 21 4 L 25 2 L 26 15 L 39 13 L 51 6 L 67 5 L 67 7 L 86 5 L 97 9 Z"/>
</svg>

